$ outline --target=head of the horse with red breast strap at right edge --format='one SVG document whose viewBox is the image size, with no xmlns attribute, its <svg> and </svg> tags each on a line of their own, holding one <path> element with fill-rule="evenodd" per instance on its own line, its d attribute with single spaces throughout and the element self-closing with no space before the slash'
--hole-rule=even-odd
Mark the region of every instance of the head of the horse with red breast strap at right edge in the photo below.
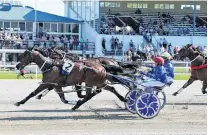
<svg viewBox="0 0 208 135">
<path fill-rule="evenodd" d="M 192 44 L 188 44 L 180 49 L 178 55 L 181 60 L 184 60 L 186 57 L 190 58 L 195 53 L 198 53 L 196 48 Z"/>
</svg>

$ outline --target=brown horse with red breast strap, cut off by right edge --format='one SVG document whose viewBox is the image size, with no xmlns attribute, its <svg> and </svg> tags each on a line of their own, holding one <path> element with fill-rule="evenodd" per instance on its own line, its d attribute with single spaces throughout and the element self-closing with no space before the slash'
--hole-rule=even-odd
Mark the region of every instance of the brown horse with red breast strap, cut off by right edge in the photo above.
<svg viewBox="0 0 208 135">
<path fill-rule="evenodd" d="M 206 94 L 207 88 L 207 58 L 199 51 L 196 50 L 191 44 L 188 44 L 181 48 L 179 51 L 179 57 L 181 60 L 188 57 L 191 60 L 191 76 L 189 80 L 183 85 L 181 89 L 173 93 L 174 96 L 182 92 L 183 89 L 188 87 L 196 80 L 203 82 L 202 93 Z"/>
</svg>

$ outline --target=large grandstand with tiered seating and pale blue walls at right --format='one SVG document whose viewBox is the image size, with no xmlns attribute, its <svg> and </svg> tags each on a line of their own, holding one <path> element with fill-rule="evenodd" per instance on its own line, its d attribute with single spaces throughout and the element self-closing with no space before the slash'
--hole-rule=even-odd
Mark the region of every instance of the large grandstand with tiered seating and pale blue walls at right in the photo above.
<svg viewBox="0 0 208 135">
<path fill-rule="evenodd" d="M 85 22 L 83 38 L 96 43 L 99 55 L 124 55 L 130 40 L 133 50 L 188 43 L 206 46 L 207 1 L 63 1 L 65 16 Z"/>
</svg>

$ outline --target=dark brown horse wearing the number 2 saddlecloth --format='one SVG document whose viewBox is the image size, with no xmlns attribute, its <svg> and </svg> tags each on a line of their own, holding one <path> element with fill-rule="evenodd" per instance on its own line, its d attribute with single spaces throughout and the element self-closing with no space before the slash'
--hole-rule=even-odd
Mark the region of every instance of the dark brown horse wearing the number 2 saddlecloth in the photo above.
<svg viewBox="0 0 208 135">
<path fill-rule="evenodd" d="M 69 103 L 64 97 L 62 87 L 76 85 L 82 82 L 85 82 L 87 86 L 86 95 L 82 100 L 79 100 L 76 103 L 76 105 L 72 108 L 73 110 L 79 108 L 82 104 L 98 94 L 97 91 L 92 91 L 91 87 L 93 86 L 96 86 L 97 89 L 102 88 L 111 91 L 121 101 L 126 101 L 123 96 L 118 94 L 114 87 L 111 87 L 105 83 L 106 80 L 110 77 L 106 74 L 104 67 L 101 65 L 89 62 L 75 62 L 75 66 L 73 67 L 70 75 L 65 78 L 61 74 L 60 67 L 56 64 L 54 65 L 54 61 L 52 59 L 44 57 L 38 51 L 28 49 L 20 56 L 20 63 L 17 64 L 16 68 L 18 70 L 23 69 L 25 66 L 32 62 L 36 63 L 43 72 L 42 84 L 40 84 L 39 87 L 30 93 L 26 98 L 20 102 L 15 103 L 16 106 L 24 104 L 31 97 L 36 96 L 44 89 L 48 89 L 50 87 L 55 88 L 62 102 Z"/>
</svg>

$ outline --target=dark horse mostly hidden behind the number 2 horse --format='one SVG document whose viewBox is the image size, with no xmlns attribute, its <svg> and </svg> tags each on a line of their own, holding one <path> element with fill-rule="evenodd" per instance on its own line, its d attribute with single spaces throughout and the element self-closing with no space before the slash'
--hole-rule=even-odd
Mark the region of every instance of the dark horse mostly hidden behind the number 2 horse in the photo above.
<svg viewBox="0 0 208 135">
<path fill-rule="evenodd" d="M 45 50 L 36 48 L 35 50 L 39 51 L 44 56 L 50 57 L 50 58 L 55 59 L 55 60 L 60 61 L 60 60 L 64 59 L 64 57 L 65 57 L 65 58 L 73 59 L 74 62 L 77 61 L 77 57 L 76 57 L 75 54 L 65 53 L 64 51 L 62 51 L 58 47 L 55 48 L 55 49 L 47 48 Z M 105 57 L 90 58 L 90 59 L 85 60 L 85 62 L 101 64 L 108 73 L 111 73 L 111 74 L 114 74 L 114 75 L 118 75 L 118 73 L 119 73 L 120 75 L 130 76 L 131 74 L 136 73 L 136 69 L 135 69 L 136 65 L 118 63 L 115 59 L 112 59 L 112 58 L 105 58 Z M 124 68 L 121 67 L 120 65 L 122 65 Z M 126 68 L 130 68 L 132 70 L 130 72 L 126 72 L 124 70 Z M 111 81 L 112 83 L 120 82 L 118 79 L 116 79 L 114 77 L 111 77 L 111 79 L 109 81 Z M 120 82 L 120 83 L 122 83 L 122 82 Z M 36 98 L 41 99 L 43 96 L 45 96 L 52 89 L 53 89 L 53 87 L 48 88 L 47 91 L 44 91 L 43 93 L 38 95 Z M 82 91 L 80 90 L 81 89 L 81 83 L 79 83 L 78 85 L 75 85 L 75 89 L 77 90 L 77 96 L 79 98 L 84 98 L 85 97 L 85 95 L 82 95 Z"/>
</svg>

